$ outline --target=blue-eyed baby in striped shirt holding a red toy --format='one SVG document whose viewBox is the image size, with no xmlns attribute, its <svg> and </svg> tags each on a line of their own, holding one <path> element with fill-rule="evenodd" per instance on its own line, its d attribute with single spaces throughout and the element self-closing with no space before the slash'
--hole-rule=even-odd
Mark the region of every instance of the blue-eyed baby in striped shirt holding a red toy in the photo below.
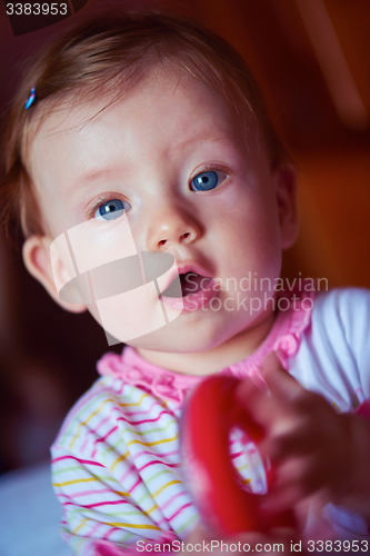
<svg viewBox="0 0 370 556">
<path fill-rule="evenodd" d="M 207 552 L 179 419 L 214 373 L 251 378 L 239 396 L 274 466 L 264 510 L 310 502 L 302 530 L 330 525 L 336 552 L 366 552 L 370 424 L 353 413 L 370 398 L 370 296 L 276 287 L 297 235 L 294 170 L 233 49 L 163 14 L 82 23 L 30 67 L 4 161 L 28 270 L 128 344 L 98 363 L 52 446 L 74 553 Z M 233 431 L 241 481 L 262 493 L 248 451 Z"/>
</svg>

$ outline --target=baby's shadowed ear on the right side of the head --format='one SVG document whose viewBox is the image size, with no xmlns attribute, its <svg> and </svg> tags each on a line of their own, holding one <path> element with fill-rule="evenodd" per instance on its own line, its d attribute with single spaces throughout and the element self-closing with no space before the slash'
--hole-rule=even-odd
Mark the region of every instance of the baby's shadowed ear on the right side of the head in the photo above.
<svg viewBox="0 0 370 556">
<path fill-rule="evenodd" d="M 297 173 L 290 161 L 283 161 L 274 172 L 274 188 L 278 202 L 281 247 L 289 249 L 298 236 Z"/>
</svg>

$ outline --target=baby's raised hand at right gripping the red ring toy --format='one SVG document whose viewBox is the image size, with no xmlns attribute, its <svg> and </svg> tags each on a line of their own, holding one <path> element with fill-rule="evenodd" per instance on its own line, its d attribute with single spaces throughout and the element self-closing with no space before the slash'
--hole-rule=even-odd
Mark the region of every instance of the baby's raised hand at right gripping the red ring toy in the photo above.
<svg viewBox="0 0 370 556">
<path fill-rule="evenodd" d="M 368 423 L 338 415 L 323 397 L 300 386 L 276 356 L 263 366 L 263 377 L 270 393 L 246 380 L 239 396 L 266 429 L 259 450 L 273 469 L 266 510 L 292 507 L 314 494 L 320 505 L 333 502 L 368 513 L 370 474 L 363 468 L 370 444 Z M 359 474 L 362 488 L 368 488 L 366 496 L 356 493 Z"/>
</svg>

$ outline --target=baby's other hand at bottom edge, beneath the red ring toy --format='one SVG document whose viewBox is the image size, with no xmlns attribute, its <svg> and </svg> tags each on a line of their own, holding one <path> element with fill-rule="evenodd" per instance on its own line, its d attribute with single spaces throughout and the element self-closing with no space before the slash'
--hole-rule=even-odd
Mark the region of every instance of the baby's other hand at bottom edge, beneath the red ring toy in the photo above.
<svg viewBox="0 0 370 556">
<path fill-rule="evenodd" d="M 213 556 L 224 556 L 229 552 L 233 554 L 258 553 L 262 556 L 269 554 L 270 556 L 271 552 L 286 553 L 290 550 L 290 543 L 294 540 L 297 540 L 294 532 L 282 528 L 274 529 L 269 535 L 249 532 L 220 538 L 218 535 L 209 532 L 206 525 L 199 524 L 184 542 L 184 548 L 181 554 L 186 555 L 194 550 L 198 554 L 211 552 Z M 187 546 L 189 549 L 187 549 Z"/>
</svg>

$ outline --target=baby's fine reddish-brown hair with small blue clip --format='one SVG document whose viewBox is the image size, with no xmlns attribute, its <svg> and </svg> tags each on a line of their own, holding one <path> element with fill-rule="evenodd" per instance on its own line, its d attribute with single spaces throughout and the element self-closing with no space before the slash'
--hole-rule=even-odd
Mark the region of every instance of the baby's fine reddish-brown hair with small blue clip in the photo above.
<svg viewBox="0 0 370 556">
<path fill-rule="evenodd" d="M 254 120 L 268 145 L 272 166 L 286 157 L 244 60 L 210 30 L 174 16 L 114 13 L 82 22 L 32 60 L 26 64 L 11 106 L 1 185 L 4 221 L 19 214 L 26 237 L 46 231 L 28 161 L 32 138 L 44 119 L 99 96 L 111 97 L 110 106 L 158 69 L 191 76 L 221 96 L 234 107 L 246 136 Z"/>
</svg>

